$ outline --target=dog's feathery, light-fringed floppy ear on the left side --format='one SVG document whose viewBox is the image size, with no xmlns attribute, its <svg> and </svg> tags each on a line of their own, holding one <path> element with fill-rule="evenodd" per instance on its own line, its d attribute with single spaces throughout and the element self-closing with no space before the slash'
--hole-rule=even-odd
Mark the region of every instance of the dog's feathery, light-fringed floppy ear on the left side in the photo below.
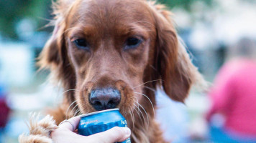
<svg viewBox="0 0 256 143">
<path fill-rule="evenodd" d="M 65 43 L 65 20 L 59 16 L 55 21 L 52 36 L 45 44 L 37 64 L 40 69 L 50 69 L 55 82 L 61 83 L 65 89 L 73 89 L 75 77 L 68 59 L 68 49 Z M 72 82 L 70 82 L 72 81 Z"/>
</svg>

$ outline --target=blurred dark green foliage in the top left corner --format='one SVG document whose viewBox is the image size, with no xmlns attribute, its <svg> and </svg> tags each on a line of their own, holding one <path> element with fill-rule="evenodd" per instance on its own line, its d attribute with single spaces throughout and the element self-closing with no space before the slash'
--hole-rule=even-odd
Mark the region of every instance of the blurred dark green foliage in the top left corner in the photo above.
<svg viewBox="0 0 256 143">
<path fill-rule="evenodd" d="M 0 1 L 0 31 L 4 36 L 17 38 L 15 25 L 24 18 L 35 19 L 37 28 L 45 25 L 42 20 L 49 16 L 47 9 L 51 1 L 45 0 L 1 0 Z"/>
</svg>

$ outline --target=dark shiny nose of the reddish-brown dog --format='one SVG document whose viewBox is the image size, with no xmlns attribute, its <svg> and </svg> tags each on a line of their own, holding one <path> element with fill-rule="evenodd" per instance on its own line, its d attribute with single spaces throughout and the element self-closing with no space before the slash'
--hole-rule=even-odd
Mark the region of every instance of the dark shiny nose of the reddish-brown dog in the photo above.
<svg viewBox="0 0 256 143">
<path fill-rule="evenodd" d="M 91 91 L 90 103 L 94 109 L 100 111 L 104 109 L 116 108 L 121 100 L 121 94 L 117 89 L 103 88 Z"/>
</svg>

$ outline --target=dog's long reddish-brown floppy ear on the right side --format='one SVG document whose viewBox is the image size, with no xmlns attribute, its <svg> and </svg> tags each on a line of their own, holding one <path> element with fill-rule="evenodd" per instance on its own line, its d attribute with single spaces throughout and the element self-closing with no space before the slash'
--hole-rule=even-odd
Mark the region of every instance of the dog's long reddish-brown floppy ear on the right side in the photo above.
<svg viewBox="0 0 256 143">
<path fill-rule="evenodd" d="M 171 99 L 184 102 L 191 85 L 203 79 L 178 40 L 170 12 L 164 10 L 163 5 L 155 5 L 152 6 L 152 14 L 157 31 L 154 66 L 158 76 L 155 79 L 162 79 L 158 85 Z"/>
</svg>

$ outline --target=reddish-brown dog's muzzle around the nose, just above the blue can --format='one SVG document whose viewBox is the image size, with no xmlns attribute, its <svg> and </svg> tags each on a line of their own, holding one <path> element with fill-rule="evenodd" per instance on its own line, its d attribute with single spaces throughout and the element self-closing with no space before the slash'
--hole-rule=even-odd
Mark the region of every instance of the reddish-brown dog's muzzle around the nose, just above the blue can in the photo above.
<svg viewBox="0 0 256 143">
<path fill-rule="evenodd" d="M 134 109 L 134 103 L 138 102 L 134 90 L 122 81 L 106 86 L 87 82 L 80 89 L 83 90 L 75 93 L 75 101 L 67 111 L 74 116 L 114 108 L 119 108 L 125 116 Z"/>
</svg>

